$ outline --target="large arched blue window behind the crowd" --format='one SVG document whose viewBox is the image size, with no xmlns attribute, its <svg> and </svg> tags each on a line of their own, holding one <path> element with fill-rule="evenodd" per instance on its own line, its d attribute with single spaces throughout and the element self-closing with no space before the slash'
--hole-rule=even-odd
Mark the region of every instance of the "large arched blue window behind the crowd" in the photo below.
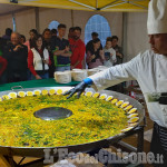
<svg viewBox="0 0 167 167">
<path fill-rule="evenodd" d="M 91 32 L 99 35 L 102 47 L 106 45 L 106 38 L 111 37 L 109 23 L 107 19 L 100 14 L 95 14 L 88 20 L 85 28 L 85 43 L 91 40 Z"/>
</svg>

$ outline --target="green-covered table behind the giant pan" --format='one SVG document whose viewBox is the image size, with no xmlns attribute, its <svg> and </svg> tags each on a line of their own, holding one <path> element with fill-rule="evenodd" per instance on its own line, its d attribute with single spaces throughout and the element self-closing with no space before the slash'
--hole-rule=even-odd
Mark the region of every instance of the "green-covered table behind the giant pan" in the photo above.
<svg viewBox="0 0 167 167">
<path fill-rule="evenodd" d="M 11 88 L 14 86 L 21 86 L 22 88 L 35 88 L 35 87 L 66 87 L 66 86 L 76 86 L 77 84 L 79 84 L 79 81 L 71 81 L 69 84 L 58 84 L 52 78 L 40 80 L 28 80 L 0 85 L 0 91 L 11 90 Z"/>
</svg>

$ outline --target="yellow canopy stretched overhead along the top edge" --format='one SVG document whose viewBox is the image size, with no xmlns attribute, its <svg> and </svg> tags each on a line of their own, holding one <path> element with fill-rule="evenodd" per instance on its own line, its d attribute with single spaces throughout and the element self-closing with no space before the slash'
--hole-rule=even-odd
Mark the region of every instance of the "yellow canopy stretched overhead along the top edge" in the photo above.
<svg viewBox="0 0 167 167">
<path fill-rule="evenodd" d="M 14 4 L 88 11 L 147 11 L 148 2 L 149 0 L 18 0 Z M 0 0 L 0 3 L 11 2 Z"/>
</svg>

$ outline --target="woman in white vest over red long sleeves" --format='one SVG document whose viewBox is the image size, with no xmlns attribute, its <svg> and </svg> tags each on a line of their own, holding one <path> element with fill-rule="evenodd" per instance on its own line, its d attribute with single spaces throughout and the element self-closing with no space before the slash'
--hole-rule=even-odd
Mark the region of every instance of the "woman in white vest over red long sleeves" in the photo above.
<svg viewBox="0 0 167 167">
<path fill-rule="evenodd" d="M 32 79 L 48 79 L 48 70 L 51 65 L 49 51 L 45 48 L 41 35 L 38 35 L 33 40 L 35 47 L 28 53 L 28 67 Z"/>
</svg>

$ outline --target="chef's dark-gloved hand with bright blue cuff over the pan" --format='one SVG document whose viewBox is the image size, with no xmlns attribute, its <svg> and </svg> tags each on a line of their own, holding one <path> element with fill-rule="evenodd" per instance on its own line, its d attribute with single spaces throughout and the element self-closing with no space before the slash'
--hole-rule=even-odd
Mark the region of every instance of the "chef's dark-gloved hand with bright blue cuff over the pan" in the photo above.
<svg viewBox="0 0 167 167">
<path fill-rule="evenodd" d="M 80 97 L 80 95 L 85 91 L 85 89 L 92 84 L 92 80 L 90 78 L 84 79 L 79 85 L 77 85 L 75 88 L 70 89 L 69 91 L 65 92 L 63 95 L 69 95 L 67 99 L 72 97 L 76 92 L 78 92 L 77 98 Z"/>
</svg>

